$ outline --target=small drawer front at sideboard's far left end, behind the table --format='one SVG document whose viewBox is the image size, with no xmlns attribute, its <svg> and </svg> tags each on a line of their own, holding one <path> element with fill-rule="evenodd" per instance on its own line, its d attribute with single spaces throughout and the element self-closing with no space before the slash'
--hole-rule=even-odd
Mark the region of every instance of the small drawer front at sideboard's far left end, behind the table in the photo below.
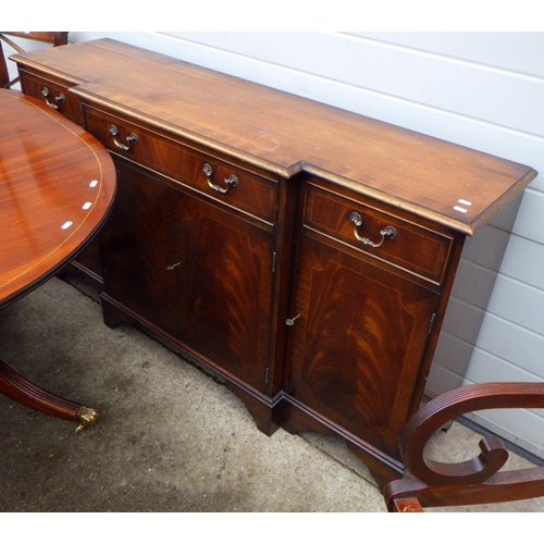
<svg viewBox="0 0 544 544">
<path fill-rule="evenodd" d="M 21 71 L 21 84 L 26 95 L 42 100 L 74 123 L 83 125 L 79 100 L 70 94 L 67 87 L 30 75 L 23 70 Z"/>
</svg>

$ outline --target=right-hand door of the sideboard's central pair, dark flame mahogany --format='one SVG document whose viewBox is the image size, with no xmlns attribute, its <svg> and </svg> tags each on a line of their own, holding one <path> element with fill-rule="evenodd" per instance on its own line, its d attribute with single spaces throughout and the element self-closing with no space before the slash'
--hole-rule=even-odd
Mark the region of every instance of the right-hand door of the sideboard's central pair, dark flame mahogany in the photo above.
<svg viewBox="0 0 544 544">
<path fill-rule="evenodd" d="M 275 235 L 181 191 L 174 205 L 178 337 L 264 392 Z"/>
</svg>

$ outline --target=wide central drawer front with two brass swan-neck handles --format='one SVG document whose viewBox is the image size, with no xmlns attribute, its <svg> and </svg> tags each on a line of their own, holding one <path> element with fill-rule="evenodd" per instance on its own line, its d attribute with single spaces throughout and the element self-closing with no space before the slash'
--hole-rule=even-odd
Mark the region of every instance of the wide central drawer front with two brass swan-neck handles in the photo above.
<svg viewBox="0 0 544 544">
<path fill-rule="evenodd" d="M 85 106 L 85 123 L 111 151 L 265 223 L 275 223 L 277 182 L 186 148 L 121 118 Z"/>
</svg>

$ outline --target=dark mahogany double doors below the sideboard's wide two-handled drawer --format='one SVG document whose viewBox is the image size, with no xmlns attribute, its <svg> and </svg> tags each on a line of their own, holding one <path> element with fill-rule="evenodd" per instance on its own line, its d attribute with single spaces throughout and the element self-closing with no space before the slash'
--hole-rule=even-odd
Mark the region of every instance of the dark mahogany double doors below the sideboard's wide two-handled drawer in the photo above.
<svg viewBox="0 0 544 544">
<path fill-rule="evenodd" d="M 264 392 L 275 235 L 122 159 L 116 165 L 103 296 Z"/>
</svg>

